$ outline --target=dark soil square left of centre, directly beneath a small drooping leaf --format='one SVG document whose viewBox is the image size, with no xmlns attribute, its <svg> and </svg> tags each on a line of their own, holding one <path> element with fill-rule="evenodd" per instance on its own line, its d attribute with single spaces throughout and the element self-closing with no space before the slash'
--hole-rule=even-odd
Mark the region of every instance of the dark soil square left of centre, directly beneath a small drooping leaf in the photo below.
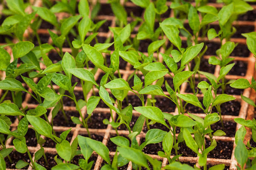
<svg viewBox="0 0 256 170">
<path fill-rule="evenodd" d="M 87 122 L 88 127 L 91 129 L 106 129 L 108 125 L 103 124 L 105 118 L 109 120 L 110 114 L 93 112 Z"/>
</svg>

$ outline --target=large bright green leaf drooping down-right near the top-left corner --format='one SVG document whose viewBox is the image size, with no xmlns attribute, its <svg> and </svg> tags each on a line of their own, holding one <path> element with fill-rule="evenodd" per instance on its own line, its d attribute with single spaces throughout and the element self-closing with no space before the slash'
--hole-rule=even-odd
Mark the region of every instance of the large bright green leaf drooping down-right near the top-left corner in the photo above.
<svg viewBox="0 0 256 170">
<path fill-rule="evenodd" d="M 45 7 L 36 7 L 32 6 L 34 11 L 37 11 L 37 14 L 45 21 L 51 23 L 54 26 L 58 25 L 57 18 L 53 12 Z"/>
</svg>

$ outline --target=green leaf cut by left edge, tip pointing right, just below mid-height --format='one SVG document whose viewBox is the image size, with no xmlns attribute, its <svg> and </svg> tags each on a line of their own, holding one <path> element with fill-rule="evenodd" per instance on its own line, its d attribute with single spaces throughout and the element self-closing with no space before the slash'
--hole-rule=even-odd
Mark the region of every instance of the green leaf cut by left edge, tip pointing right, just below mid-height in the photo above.
<svg viewBox="0 0 256 170">
<path fill-rule="evenodd" d="M 25 116 L 25 114 L 22 111 L 20 111 L 20 109 L 13 103 L 1 103 L 0 114 L 9 116 Z"/>
</svg>

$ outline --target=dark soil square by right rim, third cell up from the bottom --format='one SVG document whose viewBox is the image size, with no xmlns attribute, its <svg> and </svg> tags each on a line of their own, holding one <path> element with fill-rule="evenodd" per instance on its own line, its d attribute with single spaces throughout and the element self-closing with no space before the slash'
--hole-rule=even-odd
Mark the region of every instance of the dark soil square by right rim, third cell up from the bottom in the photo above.
<svg viewBox="0 0 256 170">
<path fill-rule="evenodd" d="M 238 116 L 241 108 L 241 103 L 238 101 L 229 101 L 221 104 L 221 115 L 233 115 Z M 212 113 L 217 112 L 216 108 L 213 107 Z"/>
</svg>

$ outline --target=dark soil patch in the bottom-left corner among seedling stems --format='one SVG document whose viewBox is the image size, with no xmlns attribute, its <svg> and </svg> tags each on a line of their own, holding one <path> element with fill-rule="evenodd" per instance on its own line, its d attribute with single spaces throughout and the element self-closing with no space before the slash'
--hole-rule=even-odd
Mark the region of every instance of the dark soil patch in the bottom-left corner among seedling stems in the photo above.
<svg viewBox="0 0 256 170">
<path fill-rule="evenodd" d="M 33 156 L 32 153 L 30 153 L 31 156 Z M 19 160 L 23 160 L 24 162 L 30 162 L 30 159 L 28 157 L 28 153 L 19 153 L 17 151 L 12 151 L 9 156 L 11 157 L 12 159 L 12 163 L 9 161 L 8 157 L 6 156 L 5 157 L 5 163 L 6 163 L 6 168 L 10 168 L 10 169 L 15 169 L 15 165 L 17 164 L 17 162 Z M 28 168 L 28 165 L 25 166 L 24 168 L 22 169 L 27 169 Z"/>
</svg>

